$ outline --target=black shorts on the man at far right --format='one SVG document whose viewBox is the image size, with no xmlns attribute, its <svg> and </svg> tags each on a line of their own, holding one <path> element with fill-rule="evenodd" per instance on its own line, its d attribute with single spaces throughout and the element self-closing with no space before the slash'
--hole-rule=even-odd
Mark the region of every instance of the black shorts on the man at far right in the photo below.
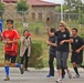
<svg viewBox="0 0 84 83">
<path fill-rule="evenodd" d="M 76 64 L 82 64 L 83 54 L 82 53 L 72 53 L 71 63 L 75 62 Z"/>
</svg>

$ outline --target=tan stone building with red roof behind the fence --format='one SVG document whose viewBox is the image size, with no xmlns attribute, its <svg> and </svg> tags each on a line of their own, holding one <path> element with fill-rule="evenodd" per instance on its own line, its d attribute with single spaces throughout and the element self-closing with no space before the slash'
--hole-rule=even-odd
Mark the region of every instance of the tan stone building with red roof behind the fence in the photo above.
<svg viewBox="0 0 84 83">
<path fill-rule="evenodd" d="M 6 13 L 8 14 L 6 18 L 13 18 L 13 19 L 22 19 L 22 17 L 15 13 L 15 6 L 19 0 L 2 0 L 6 6 Z M 25 21 L 46 21 L 48 18 L 54 19 L 55 15 L 55 8 L 60 4 L 55 4 L 52 2 L 46 2 L 42 0 L 27 0 L 29 4 L 29 11 L 25 12 Z M 12 13 L 13 12 L 13 13 Z M 11 17 L 13 15 L 13 17 Z M 18 18 L 18 17 L 19 18 Z"/>
</svg>

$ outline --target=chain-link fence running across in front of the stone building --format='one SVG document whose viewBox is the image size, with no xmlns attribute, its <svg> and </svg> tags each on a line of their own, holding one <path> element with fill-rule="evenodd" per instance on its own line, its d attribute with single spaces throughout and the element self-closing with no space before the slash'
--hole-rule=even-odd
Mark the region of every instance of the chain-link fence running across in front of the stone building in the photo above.
<svg viewBox="0 0 84 83">
<path fill-rule="evenodd" d="M 50 18 L 50 27 L 59 27 L 60 20 L 61 20 L 61 13 L 57 12 L 17 12 L 17 11 L 0 11 L 0 13 L 3 13 L 1 17 L 3 20 L 3 23 L 6 23 L 7 19 L 13 19 L 15 24 L 21 24 L 29 27 L 29 24 L 33 23 L 44 23 L 46 24 L 46 18 Z M 63 20 L 70 25 L 75 27 L 77 24 L 84 24 L 84 14 L 83 13 L 63 13 Z M 14 25 L 15 25 L 14 24 Z M 4 24 L 3 24 L 4 25 Z"/>
</svg>

